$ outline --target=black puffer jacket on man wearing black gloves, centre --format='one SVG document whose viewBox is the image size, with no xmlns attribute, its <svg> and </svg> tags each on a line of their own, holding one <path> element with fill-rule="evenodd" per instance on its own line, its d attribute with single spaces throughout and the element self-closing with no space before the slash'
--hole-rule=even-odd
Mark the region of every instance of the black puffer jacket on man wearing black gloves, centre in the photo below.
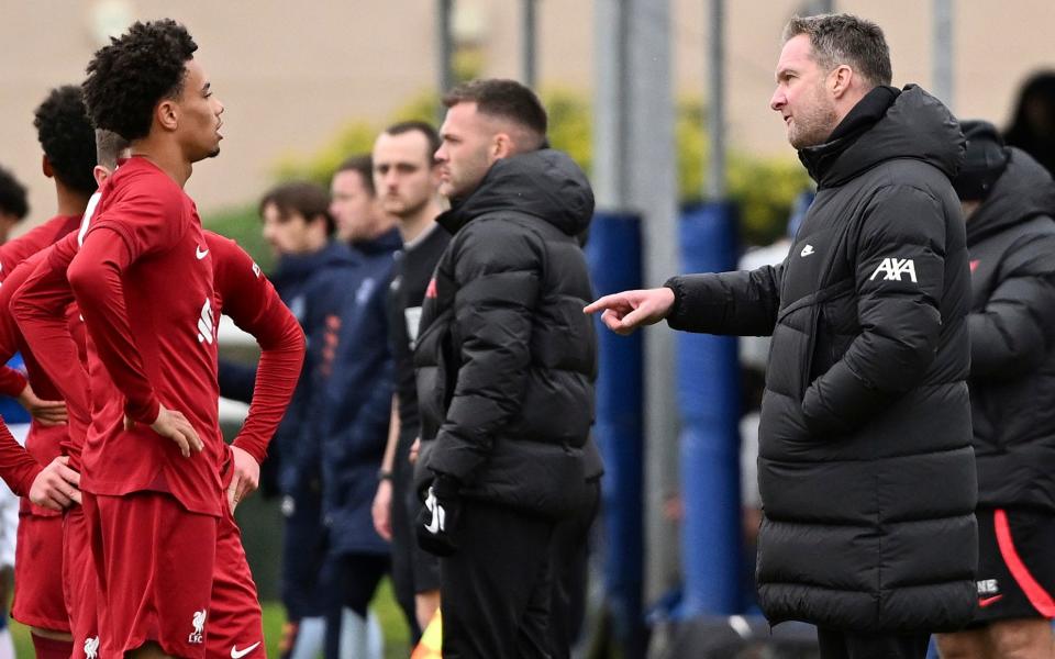
<svg viewBox="0 0 1055 659">
<path fill-rule="evenodd" d="M 454 238 L 414 349 L 419 491 L 445 473 L 463 496 L 554 517 L 588 498 L 597 337 L 577 236 L 592 213 L 586 176 L 546 149 L 498 160 L 437 219 Z"/>
</svg>

